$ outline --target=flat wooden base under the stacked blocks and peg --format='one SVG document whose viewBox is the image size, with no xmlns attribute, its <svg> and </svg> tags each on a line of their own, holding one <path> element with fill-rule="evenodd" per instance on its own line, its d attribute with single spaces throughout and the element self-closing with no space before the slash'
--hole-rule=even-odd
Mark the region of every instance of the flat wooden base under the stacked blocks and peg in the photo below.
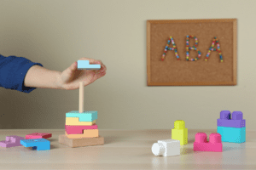
<svg viewBox="0 0 256 170">
<path fill-rule="evenodd" d="M 59 143 L 65 144 L 69 147 L 83 147 L 83 146 L 93 146 L 104 144 L 104 137 L 99 136 L 96 138 L 79 138 L 79 139 L 69 139 L 65 134 L 59 136 Z"/>
</svg>

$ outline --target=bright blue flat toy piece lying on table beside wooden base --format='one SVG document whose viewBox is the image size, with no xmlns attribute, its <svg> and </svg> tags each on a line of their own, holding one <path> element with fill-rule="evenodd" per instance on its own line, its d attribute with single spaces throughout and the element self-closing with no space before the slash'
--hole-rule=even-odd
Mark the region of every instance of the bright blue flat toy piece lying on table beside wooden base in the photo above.
<svg viewBox="0 0 256 170">
<path fill-rule="evenodd" d="M 50 142 L 47 139 L 24 139 L 20 140 L 20 144 L 36 150 L 50 150 Z"/>
</svg>

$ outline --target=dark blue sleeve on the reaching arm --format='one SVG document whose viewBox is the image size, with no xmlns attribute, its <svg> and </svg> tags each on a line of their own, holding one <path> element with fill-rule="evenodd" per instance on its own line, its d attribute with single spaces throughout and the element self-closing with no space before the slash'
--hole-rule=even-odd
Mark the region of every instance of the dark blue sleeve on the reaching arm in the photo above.
<svg viewBox="0 0 256 170">
<path fill-rule="evenodd" d="M 0 54 L 0 87 L 15 89 L 27 94 L 32 92 L 36 88 L 24 86 L 26 72 L 32 65 L 43 66 L 24 57 L 16 57 L 14 55 L 4 57 Z"/>
</svg>

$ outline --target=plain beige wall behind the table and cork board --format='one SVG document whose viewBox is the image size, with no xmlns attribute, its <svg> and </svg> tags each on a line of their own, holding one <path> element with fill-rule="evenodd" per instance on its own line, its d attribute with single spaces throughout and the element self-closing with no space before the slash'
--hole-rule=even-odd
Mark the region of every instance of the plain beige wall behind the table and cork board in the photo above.
<svg viewBox="0 0 256 170">
<path fill-rule="evenodd" d="M 84 110 L 101 129 L 214 129 L 222 110 L 242 111 L 255 129 L 256 1 L 0 1 L 0 54 L 64 71 L 82 57 L 102 59 L 105 77 L 84 88 Z M 147 87 L 146 20 L 238 20 L 237 86 Z M 64 128 L 79 90 L 0 88 L 0 128 Z M 4 114 L 4 115 L 3 115 Z"/>
</svg>

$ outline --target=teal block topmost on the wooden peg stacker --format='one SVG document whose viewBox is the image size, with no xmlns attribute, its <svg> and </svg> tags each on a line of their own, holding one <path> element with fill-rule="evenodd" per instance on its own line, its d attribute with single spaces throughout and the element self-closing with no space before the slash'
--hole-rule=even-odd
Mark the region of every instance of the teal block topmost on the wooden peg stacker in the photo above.
<svg viewBox="0 0 256 170">
<path fill-rule="evenodd" d="M 66 117 L 79 117 L 79 122 L 93 122 L 98 118 L 98 112 L 84 111 L 79 113 L 79 111 L 70 111 L 66 113 Z"/>
</svg>

